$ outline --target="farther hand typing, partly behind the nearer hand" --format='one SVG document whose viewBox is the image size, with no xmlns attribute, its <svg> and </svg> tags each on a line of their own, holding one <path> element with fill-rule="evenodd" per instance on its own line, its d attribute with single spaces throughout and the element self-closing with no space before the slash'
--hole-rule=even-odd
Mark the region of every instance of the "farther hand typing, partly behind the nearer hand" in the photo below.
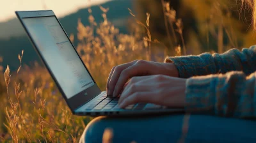
<svg viewBox="0 0 256 143">
<path fill-rule="evenodd" d="M 107 82 L 107 94 L 114 97 L 120 94 L 124 84 L 132 77 L 142 75 L 168 75 L 178 77 L 177 68 L 172 63 L 136 60 L 112 68 Z"/>
</svg>

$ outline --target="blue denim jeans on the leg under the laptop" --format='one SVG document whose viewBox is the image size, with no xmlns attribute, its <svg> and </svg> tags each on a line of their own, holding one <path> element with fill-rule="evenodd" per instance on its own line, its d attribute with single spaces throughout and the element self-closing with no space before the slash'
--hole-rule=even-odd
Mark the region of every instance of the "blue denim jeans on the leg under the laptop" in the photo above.
<svg viewBox="0 0 256 143">
<path fill-rule="evenodd" d="M 256 122 L 203 115 L 97 117 L 80 142 L 102 142 L 106 128 L 113 142 L 256 142 Z"/>
</svg>

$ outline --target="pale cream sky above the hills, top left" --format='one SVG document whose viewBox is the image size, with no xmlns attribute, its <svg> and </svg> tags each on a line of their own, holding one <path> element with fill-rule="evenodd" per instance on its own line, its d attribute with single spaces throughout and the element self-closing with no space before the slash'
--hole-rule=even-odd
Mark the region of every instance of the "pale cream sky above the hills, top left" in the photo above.
<svg viewBox="0 0 256 143">
<path fill-rule="evenodd" d="M 17 10 L 53 10 L 57 17 L 63 17 L 80 8 L 100 4 L 109 0 L 0 0 L 0 22 L 15 17 Z"/>
</svg>

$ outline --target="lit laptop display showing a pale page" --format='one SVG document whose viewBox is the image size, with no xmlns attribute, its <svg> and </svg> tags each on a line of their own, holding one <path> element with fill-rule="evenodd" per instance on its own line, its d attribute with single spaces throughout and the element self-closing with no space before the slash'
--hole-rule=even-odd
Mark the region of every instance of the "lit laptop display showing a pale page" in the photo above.
<svg viewBox="0 0 256 143">
<path fill-rule="evenodd" d="M 67 98 L 95 84 L 56 17 L 26 18 L 23 22 Z"/>
</svg>

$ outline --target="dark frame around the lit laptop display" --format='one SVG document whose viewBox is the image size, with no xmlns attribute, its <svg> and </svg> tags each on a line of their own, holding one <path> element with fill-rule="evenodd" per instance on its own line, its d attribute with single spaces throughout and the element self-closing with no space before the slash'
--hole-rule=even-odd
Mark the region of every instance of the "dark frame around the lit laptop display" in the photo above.
<svg viewBox="0 0 256 143">
<path fill-rule="evenodd" d="M 20 23 L 22 24 L 22 26 L 24 27 L 26 33 L 29 36 L 29 40 L 31 41 L 31 43 L 33 44 L 34 49 L 36 50 L 37 54 L 39 55 L 40 59 L 42 60 L 42 63 L 45 64 L 47 70 L 49 71 L 52 79 L 54 80 L 56 86 L 58 87 L 58 89 L 60 90 L 60 93 L 62 94 L 63 98 L 65 99 L 65 101 L 67 102 L 68 107 L 70 107 L 70 109 L 72 110 L 72 112 L 74 113 L 75 110 L 79 107 L 81 107 L 81 105 L 84 105 L 84 103 L 92 100 L 92 98 L 94 98 L 95 96 L 100 94 L 100 89 L 97 86 L 95 80 L 93 79 L 91 73 L 89 72 L 88 68 L 86 67 L 86 65 L 83 63 L 83 60 L 81 59 L 81 57 L 79 56 L 79 54 L 77 53 L 77 50 L 75 49 L 74 45 L 72 44 L 72 42 L 70 41 L 66 31 L 64 30 L 64 28 L 61 26 L 60 21 L 57 19 L 56 15 L 54 14 L 54 12 L 52 10 L 42 10 L 42 11 L 15 11 L 18 19 L 20 20 Z M 63 89 L 61 88 L 58 80 L 54 77 L 54 74 L 51 71 L 51 68 L 49 67 L 49 65 L 47 64 L 47 62 L 45 61 L 44 57 L 42 56 L 42 54 L 40 53 L 40 50 L 38 50 L 38 47 L 36 47 L 36 43 L 33 40 L 31 34 L 28 31 L 28 28 L 26 27 L 26 25 L 23 22 L 23 19 L 28 19 L 28 18 L 35 18 L 35 17 L 55 17 L 55 19 L 58 21 L 58 23 L 60 24 L 61 29 L 64 31 L 64 33 L 66 34 L 68 40 L 70 41 L 72 47 L 74 48 L 74 50 L 76 51 L 77 56 L 79 57 L 79 59 L 81 60 L 81 62 L 83 63 L 84 67 L 86 68 L 87 72 L 90 74 L 90 77 L 92 78 L 94 84 L 91 87 L 88 87 L 88 89 L 85 89 L 84 91 L 81 91 L 80 93 L 75 94 L 74 96 L 72 96 L 71 98 L 67 98 L 67 96 L 65 95 Z"/>
</svg>

